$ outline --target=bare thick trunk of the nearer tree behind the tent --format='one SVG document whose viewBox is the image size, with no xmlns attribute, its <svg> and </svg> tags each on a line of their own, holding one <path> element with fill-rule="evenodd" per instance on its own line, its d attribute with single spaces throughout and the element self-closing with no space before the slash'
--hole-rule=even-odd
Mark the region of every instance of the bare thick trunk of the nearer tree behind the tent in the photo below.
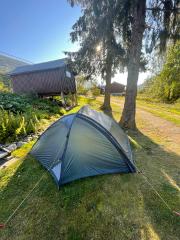
<svg viewBox="0 0 180 240">
<path fill-rule="evenodd" d="M 133 24 L 131 43 L 129 48 L 128 77 L 124 109 L 120 124 L 125 128 L 135 129 L 135 113 L 136 113 L 136 95 L 137 82 L 139 76 L 139 63 L 141 57 L 141 48 L 143 40 L 143 32 L 145 30 L 145 8 L 146 0 L 134 1 L 133 8 Z"/>
</svg>

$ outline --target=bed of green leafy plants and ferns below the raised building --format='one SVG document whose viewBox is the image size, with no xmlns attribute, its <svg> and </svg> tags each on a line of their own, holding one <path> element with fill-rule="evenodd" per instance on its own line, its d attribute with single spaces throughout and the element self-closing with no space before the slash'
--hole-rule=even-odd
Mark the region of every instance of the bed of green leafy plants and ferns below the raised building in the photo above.
<svg viewBox="0 0 180 240">
<path fill-rule="evenodd" d="M 54 114 L 63 113 L 56 103 L 48 99 L 1 93 L 0 143 L 15 141 L 37 132 L 40 120 Z"/>
</svg>

